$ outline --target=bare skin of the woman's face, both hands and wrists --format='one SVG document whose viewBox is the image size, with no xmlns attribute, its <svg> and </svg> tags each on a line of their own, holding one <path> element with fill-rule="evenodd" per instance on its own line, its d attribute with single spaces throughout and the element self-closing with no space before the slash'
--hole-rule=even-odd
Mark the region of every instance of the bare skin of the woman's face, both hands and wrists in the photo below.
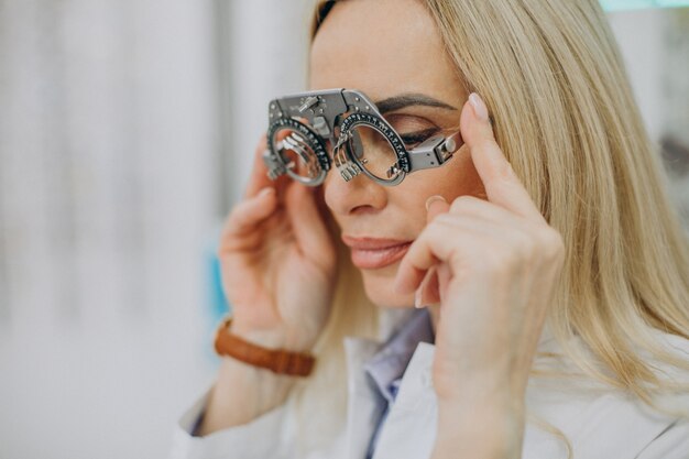
<svg viewBox="0 0 689 459">
<path fill-rule="evenodd" d="M 457 110 L 405 107 L 386 116 L 398 131 L 459 127 L 464 145 L 442 167 L 413 173 L 396 187 L 330 174 L 322 187 L 308 188 L 266 178 L 262 140 L 219 250 L 231 332 L 270 348 L 313 348 L 337 265 L 324 212 L 344 234 L 413 239 L 400 262 L 362 275 L 380 306 L 409 307 L 419 295 L 436 304 L 433 458 L 517 458 L 524 391 L 562 241 L 495 143 L 489 109 L 468 97 L 442 56 L 435 24 L 415 0 L 349 0 L 332 9 L 311 47 L 311 89 L 357 88 L 375 101 L 431 97 Z M 225 359 L 200 434 L 254 419 L 284 403 L 293 384 Z"/>
</svg>

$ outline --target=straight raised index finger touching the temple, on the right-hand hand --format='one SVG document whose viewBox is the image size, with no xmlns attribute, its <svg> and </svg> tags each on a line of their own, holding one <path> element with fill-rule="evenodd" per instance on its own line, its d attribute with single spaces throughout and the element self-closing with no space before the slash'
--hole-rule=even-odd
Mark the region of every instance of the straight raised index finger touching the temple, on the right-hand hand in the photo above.
<svg viewBox="0 0 689 459">
<path fill-rule="evenodd" d="M 495 142 L 488 108 L 475 92 L 464 103 L 459 125 L 489 200 L 524 217 L 543 219 Z"/>
</svg>

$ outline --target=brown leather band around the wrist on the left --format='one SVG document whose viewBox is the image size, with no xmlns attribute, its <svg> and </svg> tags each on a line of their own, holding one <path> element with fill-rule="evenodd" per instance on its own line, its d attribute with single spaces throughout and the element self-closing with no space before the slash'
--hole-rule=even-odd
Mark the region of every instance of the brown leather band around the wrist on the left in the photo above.
<svg viewBox="0 0 689 459">
<path fill-rule="evenodd" d="M 316 362 L 313 356 L 252 345 L 229 331 L 231 323 L 232 317 L 227 317 L 216 330 L 215 348 L 219 356 L 228 356 L 277 374 L 308 376 L 311 373 Z"/>
</svg>

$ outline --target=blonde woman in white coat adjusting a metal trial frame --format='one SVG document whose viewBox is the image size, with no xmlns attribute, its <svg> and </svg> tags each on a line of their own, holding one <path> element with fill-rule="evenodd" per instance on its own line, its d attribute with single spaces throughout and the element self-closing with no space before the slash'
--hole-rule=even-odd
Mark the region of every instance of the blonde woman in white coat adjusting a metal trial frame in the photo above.
<svg viewBox="0 0 689 459">
<path fill-rule="evenodd" d="M 259 145 L 219 332 L 317 363 L 223 359 L 175 457 L 689 457 L 686 240 L 598 3 L 346 0 L 314 24 L 310 89 L 463 145 L 315 188 L 267 179 Z"/>
</svg>

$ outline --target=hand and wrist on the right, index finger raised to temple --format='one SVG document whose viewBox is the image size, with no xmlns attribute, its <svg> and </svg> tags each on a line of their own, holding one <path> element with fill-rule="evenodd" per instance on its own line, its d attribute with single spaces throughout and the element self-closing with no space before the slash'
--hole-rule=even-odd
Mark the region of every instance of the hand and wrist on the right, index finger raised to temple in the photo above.
<svg viewBox="0 0 689 459">
<path fill-rule="evenodd" d="M 434 458 L 518 458 L 524 393 L 565 249 L 497 146 L 474 95 L 460 129 L 488 200 L 429 199 L 428 223 L 402 260 L 395 288 L 424 288 L 426 275 L 437 273 Z"/>
</svg>

